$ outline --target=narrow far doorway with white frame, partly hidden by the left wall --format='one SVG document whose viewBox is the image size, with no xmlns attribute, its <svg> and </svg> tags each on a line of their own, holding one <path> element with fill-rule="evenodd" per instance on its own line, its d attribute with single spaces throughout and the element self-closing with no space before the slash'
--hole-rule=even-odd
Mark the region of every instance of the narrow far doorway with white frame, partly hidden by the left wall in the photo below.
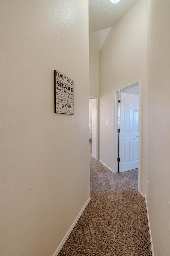
<svg viewBox="0 0 170 256">
<path fill-rule="evenodd" d="M 89 134 L 92 157 L 99 160 L 99 97 L 89 97 Z"/>
</svg>

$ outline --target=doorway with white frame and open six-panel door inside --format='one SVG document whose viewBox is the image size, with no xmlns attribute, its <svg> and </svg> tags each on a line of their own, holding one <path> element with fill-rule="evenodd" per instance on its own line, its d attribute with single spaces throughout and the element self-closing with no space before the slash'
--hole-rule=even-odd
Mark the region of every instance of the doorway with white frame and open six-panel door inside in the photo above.
<svg viewBox="0 0 170 256">
<path fill-rule="evenodd" d="M 141 79 L 114 90 L 114 173 L 138 168 L 141 182 Z"/>
</svg>

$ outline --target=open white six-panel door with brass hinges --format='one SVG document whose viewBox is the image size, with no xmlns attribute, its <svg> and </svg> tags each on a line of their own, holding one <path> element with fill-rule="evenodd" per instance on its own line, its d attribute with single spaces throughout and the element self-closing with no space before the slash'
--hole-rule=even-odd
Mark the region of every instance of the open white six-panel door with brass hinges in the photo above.
<svg viewBox="0 0 170 256">
<path fill-rule="evenodd" d="M 138 168 L 139 95 L 120 93 L 119 171 Z"/>
</svg>

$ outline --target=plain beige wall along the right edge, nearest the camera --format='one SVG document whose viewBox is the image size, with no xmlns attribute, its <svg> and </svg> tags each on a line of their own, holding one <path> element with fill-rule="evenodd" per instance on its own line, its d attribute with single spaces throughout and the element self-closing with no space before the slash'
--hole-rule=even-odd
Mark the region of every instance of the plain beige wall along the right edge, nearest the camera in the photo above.
<svg viewBox="0 0 170 256">
<path fill-rule="evenodd" d="M 155 256 L 170 252 L 170 1 L 148 0 L 147 205 Z"/>
</svg>

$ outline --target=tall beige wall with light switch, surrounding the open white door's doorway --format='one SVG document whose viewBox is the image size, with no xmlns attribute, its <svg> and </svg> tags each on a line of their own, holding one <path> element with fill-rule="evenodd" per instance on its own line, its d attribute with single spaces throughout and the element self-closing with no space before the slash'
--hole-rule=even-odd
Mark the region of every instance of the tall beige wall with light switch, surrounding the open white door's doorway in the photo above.
<svg viewBox="0 0 170 256">
<path fill-rule="evenodd" d="M 146 39 L 147 0 L 141 0 L 112 27 L 99 52 L 99 159 L 111 169 L 113 90 L 141 78 L 143 193 L 146 180 Z"/>
</svg>

